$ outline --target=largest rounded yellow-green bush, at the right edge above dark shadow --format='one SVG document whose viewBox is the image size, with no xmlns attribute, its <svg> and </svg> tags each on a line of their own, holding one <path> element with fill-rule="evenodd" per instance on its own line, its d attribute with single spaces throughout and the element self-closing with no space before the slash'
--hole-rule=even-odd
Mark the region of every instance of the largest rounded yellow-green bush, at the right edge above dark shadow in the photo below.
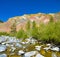
<svg viewBox="0 0 60 57">
<path fill-rule="evenodd" d="M 58 44 L 60 43 L 60 22 L 50 22 L 40 27 L 40 40 Z"/>
</svg>

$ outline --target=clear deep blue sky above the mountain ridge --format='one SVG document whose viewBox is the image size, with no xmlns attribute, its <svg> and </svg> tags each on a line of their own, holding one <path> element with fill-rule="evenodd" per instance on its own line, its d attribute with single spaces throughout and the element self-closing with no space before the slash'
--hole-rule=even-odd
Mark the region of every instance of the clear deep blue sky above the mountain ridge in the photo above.
<svg viewBox="0 0 60 57">
<path fill-rule="evenodd" d="M 36 13 L 60 12 L 60 0 L 0 0 L 0 20 Z"/>
</svg>

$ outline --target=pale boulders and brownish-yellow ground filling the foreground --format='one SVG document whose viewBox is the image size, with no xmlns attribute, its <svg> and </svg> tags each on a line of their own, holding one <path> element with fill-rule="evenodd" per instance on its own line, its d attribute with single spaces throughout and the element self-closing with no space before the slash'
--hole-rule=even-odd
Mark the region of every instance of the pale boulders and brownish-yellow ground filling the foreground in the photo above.
<svg viewBox="0 0 60 57">
<path fill-rule="evenodd" d="M 0 36 L 0 57 L 60 57 L 60 48 L 33 38 Z"/>
</svg>

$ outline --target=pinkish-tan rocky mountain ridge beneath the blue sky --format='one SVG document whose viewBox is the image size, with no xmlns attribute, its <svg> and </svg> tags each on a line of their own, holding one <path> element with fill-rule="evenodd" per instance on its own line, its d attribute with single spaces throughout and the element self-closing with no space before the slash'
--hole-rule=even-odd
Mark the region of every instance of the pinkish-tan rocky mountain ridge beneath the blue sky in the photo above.
<svg viewBox="0 0 60 57">
<path fill-rule="evenodd" d="M 23 16 L 15 16 L 9 18 L 7 22 L 0 23 L 0 32 L 10 32 L 11 26 L 16 23 L 16 30 L 18 31 L 21 27 L 25 29 L 25 25 L 28 20 L 31 22 L 36 21 L 37 24 L 40 22 L 48 23 L 53 18 L 54 21 L 60 19 L 60 13 L 37 13 L 37 14 L 24 14 Z"/>
</svg>

